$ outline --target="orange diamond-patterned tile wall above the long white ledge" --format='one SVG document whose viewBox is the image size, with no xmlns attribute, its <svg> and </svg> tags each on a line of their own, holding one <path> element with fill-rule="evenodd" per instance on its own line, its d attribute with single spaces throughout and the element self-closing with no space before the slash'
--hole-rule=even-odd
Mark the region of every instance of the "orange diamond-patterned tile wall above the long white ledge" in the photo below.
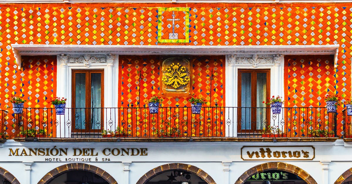
<svg viewBox="0 0 352 184">
<path fill-rule="evenodd" d="M 342 97 L 350 96 L 351 4 L 291 5 L 187 4 L 189 42 L 182 44 L 340 44 L 338 67 L 332 69 L 336 79 L 329 84 L 334 84 Z M 13 43 L 175 45 L 158 43 L 158 10 L 163 8 L 161 6 L 171 5 L 1 4 L 1 95 L 10 96 L 21 88 L 18 80 L 21 72 L 15 69 L 17 65 L 10 46 Z M 2 97 L 0 103 L 6 104 L 5 98 Z"/>
</svg>

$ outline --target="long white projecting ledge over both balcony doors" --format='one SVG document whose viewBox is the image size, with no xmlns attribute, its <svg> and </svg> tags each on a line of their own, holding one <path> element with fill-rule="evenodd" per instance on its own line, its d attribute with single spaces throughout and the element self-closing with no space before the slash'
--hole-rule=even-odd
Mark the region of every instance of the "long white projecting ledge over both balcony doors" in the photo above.
<svg viewBox="0 0 352 184">
<path fill-rule="evenodd" d="M 115 54 L 115 55 L 335 55 L 339 45 L 31 45 L 11 44 L 18 66 L 21 55 Z"/>
</svg>

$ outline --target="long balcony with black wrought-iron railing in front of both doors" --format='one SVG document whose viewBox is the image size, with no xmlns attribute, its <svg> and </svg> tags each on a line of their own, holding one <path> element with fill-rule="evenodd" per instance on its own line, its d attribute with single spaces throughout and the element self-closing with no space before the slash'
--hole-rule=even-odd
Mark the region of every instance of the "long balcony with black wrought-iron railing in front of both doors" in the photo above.
<svg viewBox="0 0 352 184">
<path fill-rule="evenodd" d="M 11 109 L 9 109 L 12 111 Z M 121 140 L 335 140 L 351 136 L 351 119 L 325 108 L 163 107 L 157 114 L 148 108 L 24 108 L 13 114 L 1 110 L 1 135 L 5 139 L 95 141 Z M 344 123 L 347 122 L 347 123 Z M 106 135 L 102 135 L 106 133 Z M 347 137 L 350 138 L 350 137 Z"/>
</svg>

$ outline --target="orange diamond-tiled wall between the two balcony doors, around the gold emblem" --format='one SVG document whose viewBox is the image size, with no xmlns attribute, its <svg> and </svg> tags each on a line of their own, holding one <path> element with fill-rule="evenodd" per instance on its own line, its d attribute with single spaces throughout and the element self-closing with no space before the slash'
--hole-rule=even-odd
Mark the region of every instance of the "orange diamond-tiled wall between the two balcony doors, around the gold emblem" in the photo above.
<svg viewBox="0 0 352 184">
<path fill-rule="evenodd" d="M 224 106 L 225 97 L 224 93 L 224 57 L 223 56 L 206 56 L 206 57 L 196 57 L 193 56 L 193 93 L 195 96 L 201 96 L 206 98 L 208 102 L 212 102 L 212 104 L 207 103 L 204 105 L 207 106 L 215 106 L 215 101 L 218 103 L 218 106 Z M 121 107 L 133 107 L 139 106 L 139 90 L 140 90 L 140 107 L 141 109 L 137 112 L 138 118 L 136 118 L 136 122 L 139 122 L 140 117 L 148 117 L 146 118 L 149 122 L 126 122 L 126 126 L 130 125 L 131 128 L 128 128 L 128 132 L 130 134 L 134 134 L 137 136 L 145 135 L 154 135 L 158 134 L 153 130 L 153 127 L 160 127 L 162 129 L 170 129 L 170 127 L 183 127 L 184 135 L 225 135 L 225 124 L 222 122 L 213 122 L 211 121 L 210 115 L 208 115 L 208 109 L 204 108 L 206 117 L 201 117 L 200 120 L 191 115 L 190 109 L 183 108 L 188 107 L 189 102 L 187 101 L 189 97 L 163 97 L 165 100 L 162 104 L 162 112 L 158 114 L 159 116 L 169 117 L 166 118 L 169 122 L 162 122 L 162 118 L 157 119 L 158 115 L 149 115 L 149 113 L 144 113 L 145 108 L 147 108 L 147 100 L 153 94 L 159 94 L 159 56 L 119 56 L 120 64 L 120 79 L 121 86 L 119 89 L 121 91 Z M 210 96 L 210 77 L 213 70 L 213 81 L 212 81 L 212 94 Z M 140 72 L 142 72 L 140 74 Z M 139 89 L 139 75 L 141 76 L 140 80 L 140 89 Z M 210 97 L 212 97 L 210 99 Z M 119 99 L 120 101 L 120 99 Z M 179 107 L 175 112 L 171 112 L 167 107 Z M 134 111 L 135 109 L 133 109 Z M 188 110 L 188 111 L 187 111 Z M 125 115 L 127 112 L 125 112 Z M 171 116 L 173 114 L 183 115 L 183 119 L 175 118 Z M 213 115 L 215 116 L 215 112 Z M 224 113 L 221 114 L 219 111 L 217 116 L 221 117 Z M 126 117 L 125 115 L 121 115 L 121 119 Z M 149 119 L 149 120 L 148 120 Z M 155 120 L 155 124 L 153 125 L 153 119 Z M 163 118 L 165 119 L 165 118 Z M 223 118 L 221 118 L 223 119 Z M 191 121 L 198 121 L 198 123 L 191 123 Z M 201 121 L 201 122 L 199 122 Z M 206 121 L 206 123 L 204 123 Z M 137 127 L 134 127 L 137 125 Z M 192 127 L 192 125 L 197 125 Z M 123 124 L 122 127 L 125 127 Z M 188 132 L 187 132 L 188 130 Z M 191 132 L 189 132 L 191 130 Z M 165 130 L 166 131 L 166 130 Z"/>
</svg>

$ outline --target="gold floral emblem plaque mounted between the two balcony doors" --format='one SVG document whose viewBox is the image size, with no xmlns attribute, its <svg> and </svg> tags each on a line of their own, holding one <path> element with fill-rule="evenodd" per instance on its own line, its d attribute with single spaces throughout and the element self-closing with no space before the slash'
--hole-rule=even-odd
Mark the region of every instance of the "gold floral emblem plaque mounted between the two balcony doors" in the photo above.
<svg viewBox="0 0 352 184">
<path fill-rule="evenodd" d="M 162 58 L 161 91 L 163 96 L 189 96 L 191 90 L 191 67 L 183 57 Z"/>
</svg>

